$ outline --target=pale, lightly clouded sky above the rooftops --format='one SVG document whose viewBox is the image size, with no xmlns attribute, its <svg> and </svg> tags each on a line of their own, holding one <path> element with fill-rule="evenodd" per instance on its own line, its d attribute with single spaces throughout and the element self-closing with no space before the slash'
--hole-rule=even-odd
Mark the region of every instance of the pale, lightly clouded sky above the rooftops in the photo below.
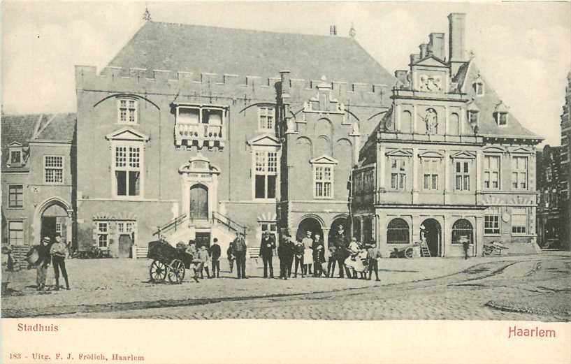
<svg viewBox="0 0 571 364">
<path fill-rule="evenodd" d="M 354 24 L 391 73 L 407 68 L 428 34 L 448 33 L 449 13 L 466 13 L 466 48 L 487 86 L 545 143 L 560 144 L 571 2 L 3 1 L 3 112 L 75 112 L 73 67 L 106 66 L 143 25 L 145 6 L 157 22 L 322 35 L 335 24 L 340 36 Z"/>
</svg>

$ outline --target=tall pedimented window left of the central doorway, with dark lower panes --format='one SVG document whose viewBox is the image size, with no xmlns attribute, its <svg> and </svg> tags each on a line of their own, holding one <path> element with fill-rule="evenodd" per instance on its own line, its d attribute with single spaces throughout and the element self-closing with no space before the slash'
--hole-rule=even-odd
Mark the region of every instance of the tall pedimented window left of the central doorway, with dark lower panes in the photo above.
<svg viewBox="0 0 571 364">
<path fill-rule="evenodd" d="M 115 146 L 115 191 L 117 196 L 140 196 L 141 147 Z"/>
</svg>

